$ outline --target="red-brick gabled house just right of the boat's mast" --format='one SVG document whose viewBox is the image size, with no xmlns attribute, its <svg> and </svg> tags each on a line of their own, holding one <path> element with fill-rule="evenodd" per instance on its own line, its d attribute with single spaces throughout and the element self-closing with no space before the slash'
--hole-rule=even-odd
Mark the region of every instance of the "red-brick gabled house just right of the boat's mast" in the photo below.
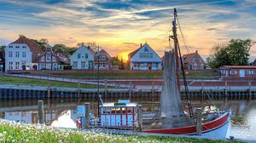
<svg viewBox="0 0 256 143">
<path fill-rule="evenodd" d="M 196 50 L 195 53 L 183 55 L 183 66 L 185 70 L 202 70 L 206 68 L 206 62 Z"/>
</svg>

